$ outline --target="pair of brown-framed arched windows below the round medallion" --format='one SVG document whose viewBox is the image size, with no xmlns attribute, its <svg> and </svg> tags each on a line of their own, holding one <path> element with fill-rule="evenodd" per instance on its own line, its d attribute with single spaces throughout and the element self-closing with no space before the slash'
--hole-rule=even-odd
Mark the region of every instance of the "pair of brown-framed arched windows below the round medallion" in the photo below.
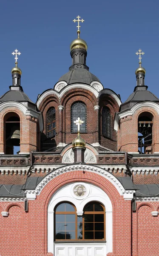
<svg viewBox="0 0 159 256">
<path fill-rule="evenodd" d="M 82 216 L 73 204 L 62 202 L 55 209 L 55 240 L 104 240 L 105 208 L 98 202 L 88 203 Z"/>
</svg>

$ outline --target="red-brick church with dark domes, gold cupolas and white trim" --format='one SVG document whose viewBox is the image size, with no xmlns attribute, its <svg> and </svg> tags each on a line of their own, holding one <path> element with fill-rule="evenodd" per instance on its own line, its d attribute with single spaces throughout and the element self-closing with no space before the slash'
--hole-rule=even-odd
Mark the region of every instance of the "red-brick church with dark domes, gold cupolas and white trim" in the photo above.
<svg viewBox="0 0 159 256">
<path fill-rule="evenodd" d="M 0 256 L 159 256 L 159 99 L 144 52 L 122 103 L 89 71 L 84 20 L 73 21 L 68 73 L 36 103 L 12 52 L 0 97 Z"/>
</svg>

